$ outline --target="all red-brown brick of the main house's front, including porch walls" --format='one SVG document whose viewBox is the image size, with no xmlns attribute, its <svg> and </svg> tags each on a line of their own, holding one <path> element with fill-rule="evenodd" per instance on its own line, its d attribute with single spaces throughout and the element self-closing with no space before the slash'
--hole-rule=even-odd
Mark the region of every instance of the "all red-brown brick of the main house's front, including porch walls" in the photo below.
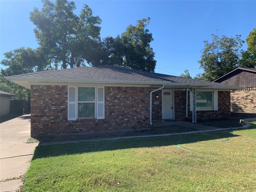
<svg viewBox="0 0 256 192">
<path fill-rule="evenodd" d="M 31 135 L 84 133 L 143 129 L 150 126 L 148 87 L 105 87 L 105 119 L 67 119 L 67 86 L 31 86 Z M 159 96 L 156 99 L 156 94 Z M 186 91 L 175 91 L 175 119 L 192 121 L 186 115 Z M 159 104 L 154 104 L 159 101 Z M 152 120 L 162 120 L 162 91 L 152 94 Z M 225 118 L 230 115 L 230 92 L 218 91 L 218 111 L 197 111 L 197 119 Z"/>
</svg>

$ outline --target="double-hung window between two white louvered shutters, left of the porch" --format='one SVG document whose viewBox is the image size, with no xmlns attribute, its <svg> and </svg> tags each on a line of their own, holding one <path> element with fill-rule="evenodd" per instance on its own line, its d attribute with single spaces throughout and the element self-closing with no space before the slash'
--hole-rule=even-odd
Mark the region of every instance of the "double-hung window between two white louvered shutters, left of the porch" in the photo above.
<svg viewBox="0 0 256 192">
<path fill-rule="evenodd" d="M 78 87 L 78 118 L 95 117 L 95 87 Z"/>
</svg>

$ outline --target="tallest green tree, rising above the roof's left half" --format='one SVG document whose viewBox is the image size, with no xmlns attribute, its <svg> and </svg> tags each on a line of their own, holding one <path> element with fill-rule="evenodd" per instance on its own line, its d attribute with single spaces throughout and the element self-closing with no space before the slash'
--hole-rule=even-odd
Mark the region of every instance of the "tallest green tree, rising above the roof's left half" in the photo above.
<svg viewBox="0 0 256 192">
<path fill-rule="evenodd" d="M 100 17 L 93 16 L 91 8 L 85 4 L 77 16 L 73 1 L 42 0 L 42 3 L 40 11 L 35 7 L 30 12 L 40 47 L 64 69 L 68 65 L 73 68 L 91 62 L 100 44 Z"/>
</svg>

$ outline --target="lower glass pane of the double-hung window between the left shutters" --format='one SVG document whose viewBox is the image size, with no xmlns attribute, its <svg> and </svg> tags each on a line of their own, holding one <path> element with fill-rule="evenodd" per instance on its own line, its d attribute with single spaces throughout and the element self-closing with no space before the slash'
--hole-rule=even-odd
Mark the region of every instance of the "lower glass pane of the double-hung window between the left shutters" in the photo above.
<svg viewBox="0 0 256 192">
<path fill-rule="evenodd" d="M 78 103 L 78 118 L 95 117 L 95 103 Z"/>
</svg>

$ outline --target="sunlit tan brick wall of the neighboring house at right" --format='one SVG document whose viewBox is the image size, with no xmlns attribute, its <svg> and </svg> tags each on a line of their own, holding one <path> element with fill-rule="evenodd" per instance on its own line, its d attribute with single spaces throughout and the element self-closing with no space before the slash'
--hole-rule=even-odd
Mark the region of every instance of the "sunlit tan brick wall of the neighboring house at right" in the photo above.
<svg viewBox="0 0 256 192">
<path fill-rule="evenodd" d="M 231 111 L 256 113 L 256 87 L 230 92 Z"/>
</svg>

